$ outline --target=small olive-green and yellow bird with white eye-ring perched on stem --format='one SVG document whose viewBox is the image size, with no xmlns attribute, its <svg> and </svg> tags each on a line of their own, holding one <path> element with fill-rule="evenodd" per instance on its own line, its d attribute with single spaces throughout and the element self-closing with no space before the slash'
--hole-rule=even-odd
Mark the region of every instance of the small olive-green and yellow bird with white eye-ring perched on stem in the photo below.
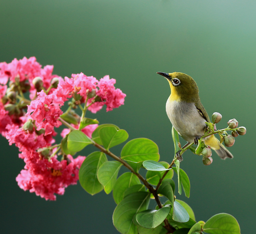
<svg viewBox="0 0 256 234">
<path fill-rule="evenodd" d="M 204 135 L 206 123 L 210 118 L 199 98 L 199 91 L 196 82 L 192 77 L 181 73 L 157 72 L 164 76 L 171 87 L 171 95 L 166 102 L 166 113 L 172 123 L 172 126 L 188 143 L 197 142 L 200 136 Z M 205 144 L 215 150 L 220 158 L 233 158 L 233 155 L 220 144 L 220 141 L 214 136 L 204 138 Z M 179 160 L 182 160 L 179 152 Z"/>
</svg>

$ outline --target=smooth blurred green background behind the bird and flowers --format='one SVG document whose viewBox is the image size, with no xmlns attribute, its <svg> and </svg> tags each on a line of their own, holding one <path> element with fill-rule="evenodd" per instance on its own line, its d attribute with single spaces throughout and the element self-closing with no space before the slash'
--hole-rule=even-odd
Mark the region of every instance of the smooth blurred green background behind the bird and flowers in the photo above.
<svg viewBox="0 0 256 234">
<path fill-rule="evenodd" d="M 0 62 L 36 56 L 62 77 L 83 72 L 115 78 L 127 94 L 125 105 L 88 117 L 118 125 L 130 140 L 152 139 L 168 162 L 174 150 L 165 113 L 170 88 L 156 72 L 192 76 L 209 115 L 222 114 L 218 127 L 236 118 L 247 134 L 230 148 L 232 160 L 213 153 L 213 163 L 204 166 L 201 157 L 186 152 L 180 166 L 191 195 L 176 196 L 193 208 L 197 221 L 229 213 L 242 233 L 254 233 L 255 11 L 256 2 L 249 0 L 1 0 Z M 24 192 L 15 181 L 24 162 L 2 136 L 0 144 L 1 233 L 118 233 L 111 194 L 91 196 L 79 183 L 57 201 Z M 113 152 L 118 155 L 121 147 Z"/>
</svg>

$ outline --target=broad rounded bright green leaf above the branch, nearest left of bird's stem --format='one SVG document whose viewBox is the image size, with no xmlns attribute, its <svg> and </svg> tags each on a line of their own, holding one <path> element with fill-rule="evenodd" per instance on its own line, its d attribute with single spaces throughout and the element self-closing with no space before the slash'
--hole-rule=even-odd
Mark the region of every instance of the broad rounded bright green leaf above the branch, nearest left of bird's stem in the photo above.
<svg viewBox="0 0 256 234">
<path fill-rule="evenodd" d="M 147 138 L 137 138 L 127 142 L 121 152 L 121 158 L 132 162 L 159 160 L 158 146 Z"/>
</svg>

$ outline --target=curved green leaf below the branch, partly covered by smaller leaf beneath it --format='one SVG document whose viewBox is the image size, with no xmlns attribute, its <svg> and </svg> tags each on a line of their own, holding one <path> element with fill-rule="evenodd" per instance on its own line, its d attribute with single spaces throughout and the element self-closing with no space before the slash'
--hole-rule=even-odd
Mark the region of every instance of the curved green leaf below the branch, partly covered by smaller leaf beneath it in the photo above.
<svg viewBox="0 0 256 234">
<path fill-rule="evenodd" d="M 113 198 L 116 204 L 123 200 L 124 191 L 127 188 L 137 184 L 140 184 L 140 179 L 132 172 L 125 172 L 123 175 L 121 175 L 116 180 L 115 186 L 113 188 Z"/>
</svg>

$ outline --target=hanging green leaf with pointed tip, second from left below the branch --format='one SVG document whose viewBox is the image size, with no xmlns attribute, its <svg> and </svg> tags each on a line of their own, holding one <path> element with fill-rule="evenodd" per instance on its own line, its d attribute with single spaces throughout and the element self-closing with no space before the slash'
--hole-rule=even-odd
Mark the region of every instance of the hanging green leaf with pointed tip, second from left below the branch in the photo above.
<svg viewBox="0 0 256 234">
<path fill-rule="evenodd" d="M 116 183 L 117 174 L 122 165 L 123 164 L 117 161 L 108 161 L 100 166 L 97 176 L 100 183 L 104 186 L 106 194 L 112 191 Z"/>
</svg>

